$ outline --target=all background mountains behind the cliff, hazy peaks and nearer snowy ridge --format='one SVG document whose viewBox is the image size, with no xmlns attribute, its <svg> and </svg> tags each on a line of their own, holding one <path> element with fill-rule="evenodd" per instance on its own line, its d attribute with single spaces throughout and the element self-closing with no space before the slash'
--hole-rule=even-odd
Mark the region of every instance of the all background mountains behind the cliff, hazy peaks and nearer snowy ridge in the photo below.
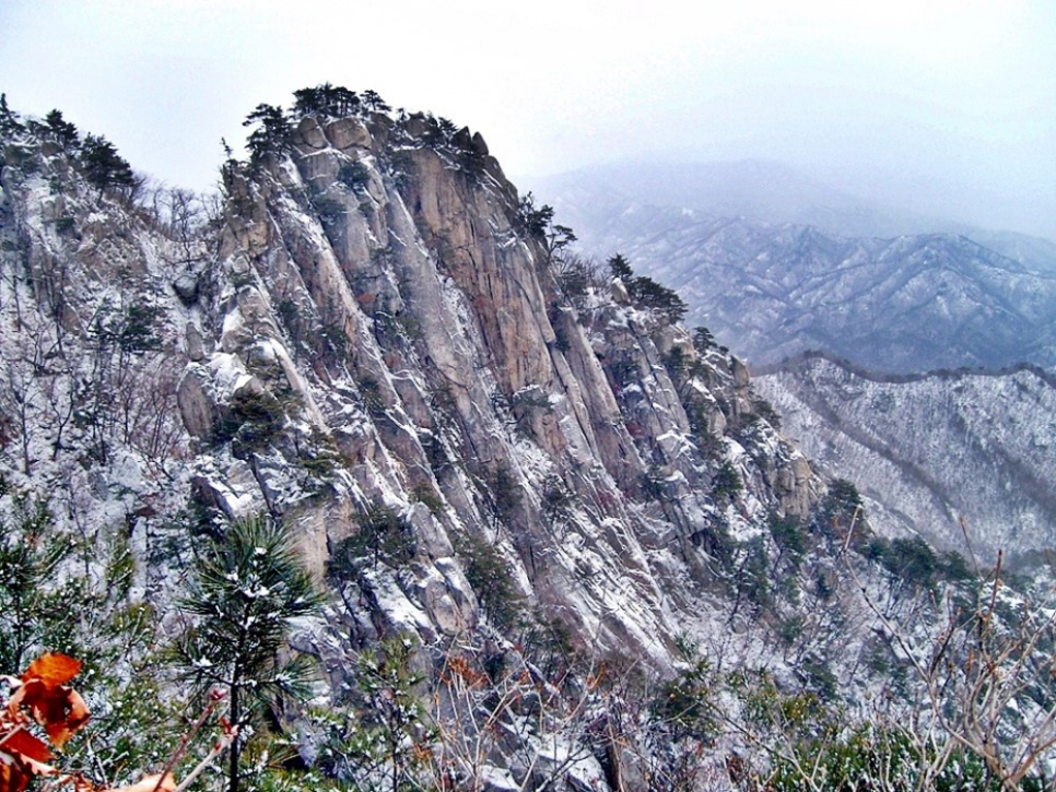
<svg viewBox="0 0 1056 792">
<path fill-rule="evenodd" d="M 880 530 L 962 546 L 963 517 L 984 553 L 1052 546 L 1052 379 L 996 369 L 1056 365 L 1053 243 L 762 162 L 584 169 L 540 198 L 584 250 L 623 252 L 679 291 L 688 323 L 770 364 L 756 387 L 785 433 L 858 485 Z M 828 356 L 777 365 L 805 350 Z"/>
</svg>

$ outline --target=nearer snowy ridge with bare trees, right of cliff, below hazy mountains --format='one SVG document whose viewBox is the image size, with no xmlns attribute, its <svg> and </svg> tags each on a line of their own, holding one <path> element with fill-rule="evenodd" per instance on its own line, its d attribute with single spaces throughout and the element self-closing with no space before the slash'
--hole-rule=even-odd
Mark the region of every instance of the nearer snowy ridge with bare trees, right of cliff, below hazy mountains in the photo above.
<svg viewBox="0 0 1056 792">
<path fill-rule="evenodd" d="M 784 432 L 852 480 L 873 527 L 982 557 L 1056 545 L 1056 387 L 1040 370 L 882 378 L 810 356 L 760 377 Z"/>
</svg>

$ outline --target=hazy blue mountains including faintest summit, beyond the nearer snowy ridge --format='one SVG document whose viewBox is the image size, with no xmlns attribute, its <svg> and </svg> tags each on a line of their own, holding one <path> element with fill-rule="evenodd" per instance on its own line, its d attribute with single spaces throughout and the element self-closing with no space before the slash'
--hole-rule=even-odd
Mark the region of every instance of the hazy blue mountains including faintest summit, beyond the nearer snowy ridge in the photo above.
<svg viewBox="0 0 1056 792">
<path fill-rule="evenodd" d="M 543 190 L 585 252 L 622 252 L 753 364 L 826 350 L 902 373 L 1056 365 L 1047 240 L 893 212 L 756 162 L 586 169 Z"/>
</svg>

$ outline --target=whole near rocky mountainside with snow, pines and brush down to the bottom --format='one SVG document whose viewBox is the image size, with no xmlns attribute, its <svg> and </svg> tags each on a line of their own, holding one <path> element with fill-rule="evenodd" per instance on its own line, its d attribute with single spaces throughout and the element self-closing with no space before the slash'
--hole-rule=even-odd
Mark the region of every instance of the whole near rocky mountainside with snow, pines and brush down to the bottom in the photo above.
<svg viewBox="0 0 1056 792">
<path fill-rule="evenodd" d="M 216 788 L 748 789 L 908 711 L 934 647 L 961 667 L 963 560 L 877 535 L 479 133 L 306 88 L 210 199 L 0 108 L 0 672 L 85 658 L 62 758 L 97 789 L 165 767 L 212 685 Z M 998 718 L 1030 742 L 1046 695 Z"/>
</svg>

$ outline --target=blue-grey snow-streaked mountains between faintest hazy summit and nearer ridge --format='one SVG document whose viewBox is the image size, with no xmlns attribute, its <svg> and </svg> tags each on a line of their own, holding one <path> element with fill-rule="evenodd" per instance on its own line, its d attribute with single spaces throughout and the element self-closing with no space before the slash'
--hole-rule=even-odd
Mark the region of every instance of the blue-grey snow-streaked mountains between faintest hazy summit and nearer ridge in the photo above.
<svg viewBox="0 0 1056 792">
<path fill-rule="evenodd" d="M 1056 366 L 1045 240 L 1004 237 L 1024 262 L 952 234 L 846 237 L 646 204 L 589 179 L 562 190 L 554 204 L 586 252 L 623 252 L 752 364 L 822 348 L 893 373 Z"/>
</svg>

